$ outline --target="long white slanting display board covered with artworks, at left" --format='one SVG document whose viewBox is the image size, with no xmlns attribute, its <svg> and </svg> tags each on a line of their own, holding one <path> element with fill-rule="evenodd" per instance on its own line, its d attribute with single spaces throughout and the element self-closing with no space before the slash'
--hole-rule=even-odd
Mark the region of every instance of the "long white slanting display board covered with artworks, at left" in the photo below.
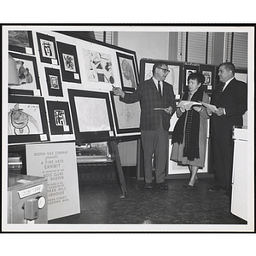
<svg viewBox="0 0 256 256">
<path fill-rule="evenodd" d="M 136 90 L 135 51 L 74 37 L 72 32 L 26 28 L 8 31 L 8 53 L 16 62 L 19 77 L 19 84 L 9 85 L 9 144 L 91 143 L 133 140 L 140 135 L 139 103 L 124 108 L 112 93 L 112 86 L 130 93 Z M 14 130 L 11 121 L 15 113 L 23 111 L 24 117 L 32 119 L 27 107 L 36 102 L 38 113 L 33 114 L 41 125 L 38 134 Z"/>
</svg>

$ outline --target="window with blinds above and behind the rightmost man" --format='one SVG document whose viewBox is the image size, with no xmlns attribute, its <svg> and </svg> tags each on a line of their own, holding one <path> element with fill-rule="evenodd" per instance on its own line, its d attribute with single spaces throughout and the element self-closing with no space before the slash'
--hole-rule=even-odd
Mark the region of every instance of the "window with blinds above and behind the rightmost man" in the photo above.
<svg viewBox="0 0 256 256">
<path fill-rule="evenodd" d="M 247 68 L 247 32 L 226 32 L 224 36 L 224 61 L 236 68 Z"/>
</svg>

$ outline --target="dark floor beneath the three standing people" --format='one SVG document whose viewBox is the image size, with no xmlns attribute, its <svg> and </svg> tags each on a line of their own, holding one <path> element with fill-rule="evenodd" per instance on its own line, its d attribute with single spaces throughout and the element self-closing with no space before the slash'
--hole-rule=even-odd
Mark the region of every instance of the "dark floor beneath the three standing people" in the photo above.
<svg viewBox="0 0 256 256">
<path fill-rule="evenodd" d="M 168 190 L 148 190 L 143 181 L 125 177 L 125 197 L 117 182 L 83 184 L 81 212 L 49 224 L 246 224 L 230 213 L 230 200 L 223 191 L 207 190 L 212 178 L 201 178 L 195 190 L 183 188 L 186 182 L 166 180 Z"/>
</svg>

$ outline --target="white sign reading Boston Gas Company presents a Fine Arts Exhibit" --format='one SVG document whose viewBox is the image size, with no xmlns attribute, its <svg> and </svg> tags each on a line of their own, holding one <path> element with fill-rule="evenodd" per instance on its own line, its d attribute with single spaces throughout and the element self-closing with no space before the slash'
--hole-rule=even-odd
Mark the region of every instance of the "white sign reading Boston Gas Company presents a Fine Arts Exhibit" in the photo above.
<svg viewBox="0 0 256 256">
<path fill-rule="evenodd" d="M 80 213 L 75 143 L 27 144 L 26 168 L 47 177 L 48 220 Z"/>
</svg>

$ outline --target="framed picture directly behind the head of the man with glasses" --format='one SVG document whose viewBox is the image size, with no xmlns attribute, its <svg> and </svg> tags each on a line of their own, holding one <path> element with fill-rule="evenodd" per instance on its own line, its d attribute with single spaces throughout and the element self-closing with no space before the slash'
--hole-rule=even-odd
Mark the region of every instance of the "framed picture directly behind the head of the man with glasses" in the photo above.
<svg viewBox="0 0 256 256">
<path fill-rule="evenodd" d="M 153 76 L 152 68 L 154 63 L 160 60 L 149 60 L 149 59 L 142 59 L 140 61 L 140 74 L 141 74 L 141 81 L 151 79 Z M 182 95 L 182 71 L 183 71 L 183 63 L 182 62 L 171 62 L 165 61 L 168 64 L 168 69 L 170 73 L 166 77 L 166 82 L 172 84 L 173 91 L 175 94 L 176 99 L 178 100 Z"/>
</svg>

